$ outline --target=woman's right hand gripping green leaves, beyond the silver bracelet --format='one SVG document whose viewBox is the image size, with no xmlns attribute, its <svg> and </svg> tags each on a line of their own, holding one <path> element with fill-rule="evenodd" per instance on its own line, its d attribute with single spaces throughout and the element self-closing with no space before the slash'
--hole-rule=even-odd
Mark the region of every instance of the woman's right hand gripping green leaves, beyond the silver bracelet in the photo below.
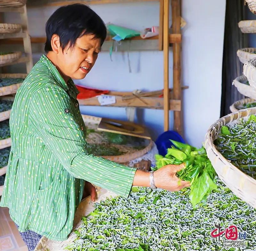
<svg viewBox="0 0 256 251">
<path fill-rule="evenodd" d="M 155 171 L 154 180 L 156 187 L 174 192 L 190 186 L 189 181 L 180 180 L 176 176 L 177 171 L 184 167 L 185 163 L 180 165 L 167 165 Z"/>
</svg>

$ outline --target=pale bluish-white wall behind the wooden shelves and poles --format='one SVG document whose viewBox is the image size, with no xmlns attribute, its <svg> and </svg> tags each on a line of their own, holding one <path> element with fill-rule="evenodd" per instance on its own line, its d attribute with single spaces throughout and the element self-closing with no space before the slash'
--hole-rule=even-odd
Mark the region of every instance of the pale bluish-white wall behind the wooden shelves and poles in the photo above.
<svg viewBox="0 0 256 251">
<path fill-rule="evenodd" d="M 225 1 L 183 0 L 182 17 L 187 21 L 183 31 L 182 80 L 189 89 L 183 91 L 185 140 L 201 146 L 209 126 L 220 115 L 221 71 L 224 38 Z M 159 2 L 92 5 L 105 22 L 137 30 L 159 24 Z M 55 7 L 28 9 L 31 36 L 44 36 L 44 25 Z M 15 22 L 13 14 L 5 21 Z M 171 17 L 170 17 L 171 20 Z M 35 62 L 40 55 L 34 55 Z M 159 90 L 163 88 L 163 52 L 102 52 L 84 79 L 77 81 L 89 87 L 116 91 Z M 15 69 L 17 70 L 17 68 Z M 170 87 L 172 87 L 172 51 L 170 51 Z M 81 106 L 83 114 L 126 119 L 125 108 Z M 170 125 L 173 124 L 170 112 Z M 162 110 L 138 110 L 136 121 L 146 124 L 156 138 L 163 132 Z"/>
</svg>

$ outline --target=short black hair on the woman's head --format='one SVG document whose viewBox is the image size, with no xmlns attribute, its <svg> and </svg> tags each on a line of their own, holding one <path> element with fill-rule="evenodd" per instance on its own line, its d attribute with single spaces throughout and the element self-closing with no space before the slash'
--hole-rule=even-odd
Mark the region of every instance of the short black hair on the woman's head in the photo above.
<svg viewBox="0 0 256 251">
<path fill-rule="evenodd" d="M 76 39 L 83 35 L 100 38 L 101 46 L 107 37 L 107 28 L 103 20 L 86 4 L 69 4 L 58 8 L 45 25 L 46 43 L 44 51 L 52 51 L 52 35 L 60 37 L 62 50 L 70 43 L 73 47 Z"/>
</svg>

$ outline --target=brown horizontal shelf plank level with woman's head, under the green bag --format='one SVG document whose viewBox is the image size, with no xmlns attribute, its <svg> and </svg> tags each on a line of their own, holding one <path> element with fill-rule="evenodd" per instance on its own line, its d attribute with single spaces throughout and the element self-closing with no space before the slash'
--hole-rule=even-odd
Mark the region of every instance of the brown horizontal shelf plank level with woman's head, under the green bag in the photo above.
<svg viewBox="0 0 256 251">
<path fill-rule="evenodd" d="M 181 34 L 170 34 L 169 35 L 170 43 L 181 43 Z M 31 43 L 45 43 L 46 37 L 31 37 L 30 38 Z M 130 40 L 140 40 L 140 41 L 148 41 L 148 40 L 158 40 L 158 35 L 153 36 L 147 39 L 143 39 L 140 36 L 133 37 L 132 39 L 126 39 L 123 42 L 130 41 Z M 111 37 L 107 37 L 105 41 L 113 41 Z M 3 39 L 0 40 L 0 44 L 18 44 L 18 43 L 23 43 L 23 40 L 21 38 L 9 38 L 9 39 Z M 106 43 L 106 42 L 104 42 Z"/>
</svg>

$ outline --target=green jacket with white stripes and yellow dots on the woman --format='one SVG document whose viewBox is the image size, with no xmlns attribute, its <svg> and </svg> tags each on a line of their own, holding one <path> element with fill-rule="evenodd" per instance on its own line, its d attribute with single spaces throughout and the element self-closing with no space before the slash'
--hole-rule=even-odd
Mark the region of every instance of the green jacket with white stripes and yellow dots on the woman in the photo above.
<svg viewBox="0 0 256 251">
<path fill-rule="evenodd" d="M 17 91 L 0 206 L 9 208 L 19 231 L 66 240 L 85 180 L 130 194 L 136 169 L 88 154 L 78 93 L 44 55 Z"/>
</svg>

